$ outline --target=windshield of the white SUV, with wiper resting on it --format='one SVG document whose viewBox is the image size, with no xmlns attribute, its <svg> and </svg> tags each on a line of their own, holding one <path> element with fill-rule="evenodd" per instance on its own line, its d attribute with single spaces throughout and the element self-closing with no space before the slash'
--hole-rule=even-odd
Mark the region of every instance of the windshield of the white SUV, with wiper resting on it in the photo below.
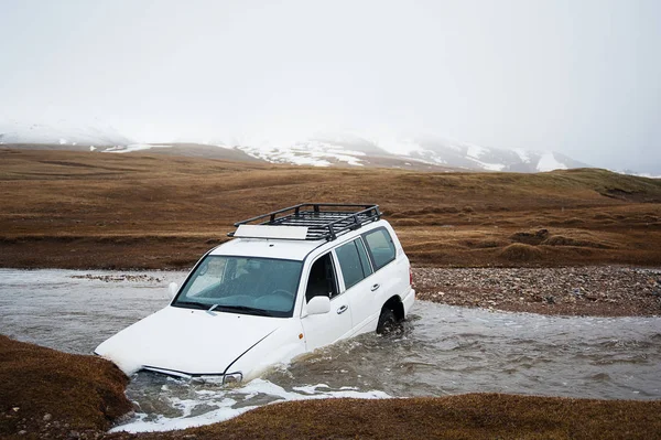
<svg viewBox="0 0 661 440">
<path fill-rule="evenodd" d="M 272 258 L 207 255 L 172 305 L 291 316 L 302 265 Z"/>
</svg>

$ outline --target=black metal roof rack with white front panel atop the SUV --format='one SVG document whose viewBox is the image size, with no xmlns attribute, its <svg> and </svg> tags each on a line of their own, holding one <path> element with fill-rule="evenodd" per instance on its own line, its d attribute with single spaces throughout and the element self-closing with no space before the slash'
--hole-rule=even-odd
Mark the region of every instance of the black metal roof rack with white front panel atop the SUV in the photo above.
<svg viewBox="0 0 661 440">
<path fill-rule="evenodd" d="M 301 203 L 235 223 L 229 237 L 334 240 L 381 218 L 379 205 Z M 262 221 L 262 222 L 260 222 Z"/>
</svg>

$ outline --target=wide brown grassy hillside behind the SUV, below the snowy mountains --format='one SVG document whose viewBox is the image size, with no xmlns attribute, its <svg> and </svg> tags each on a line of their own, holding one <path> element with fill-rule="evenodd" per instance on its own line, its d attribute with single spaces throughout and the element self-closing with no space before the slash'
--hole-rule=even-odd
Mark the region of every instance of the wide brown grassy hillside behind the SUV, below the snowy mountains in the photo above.
<svg viewBox="0 0 661 440">
<path fill-rule="evenodd" d="M 661 264 L 661 181 L 604 170 L 424 173 L 8 149 L 0 163 L 4 267 L 187 267 L 234 222 L 303 201 L 378 203 L 415 264 Z M 530 258 L 517 243 L 534 247 Z"/>
</svg>

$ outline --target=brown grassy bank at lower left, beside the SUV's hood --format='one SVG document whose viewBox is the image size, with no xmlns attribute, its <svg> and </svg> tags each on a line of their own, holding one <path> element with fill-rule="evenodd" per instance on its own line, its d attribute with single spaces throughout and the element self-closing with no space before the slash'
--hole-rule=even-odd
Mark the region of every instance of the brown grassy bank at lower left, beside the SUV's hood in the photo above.
<svg viewBox="0 0 661 440">
<path fill-rule="evenodd" d="M 123 393 L 128 382 L 117 366 L 99 357 L 0 335 L 0 437 L 39 432 L 46 421 L 66 432 L 108 429 L 132 409 Z M 44 420 L 46 414 L 51 419 Z"/>
</svg>

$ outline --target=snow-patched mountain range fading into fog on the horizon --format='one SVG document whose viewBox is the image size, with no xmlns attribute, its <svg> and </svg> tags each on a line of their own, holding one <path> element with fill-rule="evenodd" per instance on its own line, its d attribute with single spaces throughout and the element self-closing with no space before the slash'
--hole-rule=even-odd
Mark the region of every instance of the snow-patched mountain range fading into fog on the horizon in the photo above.
<svg viewBox="0 0 661 440">
<path fill-rule="evenodd" d="M 438 137 L 378 138 L 355 133 L 316 135 L 302 140 L 229 138 L 204 143 L 137 143 L 111 127 L 20 125 L 0 121 L 0 144 L 127 153 L 151 152 L 313 167 L 388 167 L 415 170 L 540 172 L 589 167 L 557 152 L 478 147 Z"/>
</svg>

